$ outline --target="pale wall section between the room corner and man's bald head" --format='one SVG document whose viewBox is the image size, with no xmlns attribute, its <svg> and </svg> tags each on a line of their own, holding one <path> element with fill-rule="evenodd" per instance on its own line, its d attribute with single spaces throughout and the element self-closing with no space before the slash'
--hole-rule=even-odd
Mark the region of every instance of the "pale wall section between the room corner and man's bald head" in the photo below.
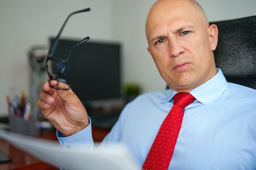
<svg viewBox="0 0 256 170">
<path fill-rule="evenodd" d="M 162 90 L 166 83 L 147 51 L 145 22 L 155 0 L 114 0 L 115 38 L 123 44 L 123 78 L 135 81 L 143 92 Z"/>
</svg>

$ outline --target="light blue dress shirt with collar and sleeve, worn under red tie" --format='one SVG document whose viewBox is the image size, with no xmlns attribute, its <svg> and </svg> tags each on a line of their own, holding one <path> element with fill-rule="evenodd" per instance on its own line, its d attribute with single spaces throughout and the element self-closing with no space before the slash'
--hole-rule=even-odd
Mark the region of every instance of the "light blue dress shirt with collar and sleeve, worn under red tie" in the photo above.
<svg viewBox="0 0 256 170">
<path fill-rule="evenodd" d="M 102 144 L 124 143 L 142 167 L 177 92 L 142 94 L 121 112 Z M 256 90 L 216 76 L 190 92 L 170 170 L 256 170 Z M 91 125 L 58 139 L 64 148 L 93 146 Z"/>
</svg>

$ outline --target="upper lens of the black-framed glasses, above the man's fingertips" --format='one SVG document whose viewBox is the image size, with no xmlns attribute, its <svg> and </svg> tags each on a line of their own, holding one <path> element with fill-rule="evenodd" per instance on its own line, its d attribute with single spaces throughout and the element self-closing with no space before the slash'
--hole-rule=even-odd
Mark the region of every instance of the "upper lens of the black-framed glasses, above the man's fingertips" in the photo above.
<svg viewBox="0 0 256 170">
<path fill-rule="evenodd" d="M 49 58 L 46 62 L 47 72 L 51 77 L 65 77 L 68 74 L 68 64 L 63 59 Z"/>
</svg>

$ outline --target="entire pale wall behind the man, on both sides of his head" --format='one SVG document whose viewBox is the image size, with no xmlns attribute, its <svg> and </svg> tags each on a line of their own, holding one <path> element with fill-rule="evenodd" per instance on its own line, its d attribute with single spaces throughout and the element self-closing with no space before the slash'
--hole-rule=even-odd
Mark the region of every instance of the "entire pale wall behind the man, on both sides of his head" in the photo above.
<svg viewBox="0 0 256 170">
<path fill-rule="evenodd" d="M 136 81 L 143 92 L 162 90 L 148 54 L 144 25 L 155 0 L 0 0 L 0 115 L 7 114 L 5 96 L 10 87 L 29 93 L 30 65 L 27 51 L 47 44 L 67 15 L 90 7 L 92 11 L 72 16 L 62 36 L 119 41 L 123 45 L 123 82 Z M 256 15 L 255 0 L 198 0 L 209 21 Z"/>
</svg>

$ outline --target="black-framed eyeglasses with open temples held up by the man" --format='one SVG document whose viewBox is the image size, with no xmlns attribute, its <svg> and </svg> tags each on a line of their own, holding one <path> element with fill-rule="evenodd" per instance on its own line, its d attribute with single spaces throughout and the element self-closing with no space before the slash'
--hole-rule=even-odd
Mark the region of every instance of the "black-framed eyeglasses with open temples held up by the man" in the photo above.
<svg viewBox="0 0 256 170">
<path fill-rule="evenodd" d="M 72 51 L 74 50 L 74 48 L 76 48 L 80 44 L 83 44 L 85 41 L 90 39 L 90 37 L 86 37 L 81 42 L 76 44 L 70 51 L 70 54 L 68 55 L 67 59 L 54 58 L 53 55 L 54 55 L 54 52 L 58 45 L 58 41 L 59 41 L 61 32 L 62 32 L 67 20 L 69 19 L 69 17 L 71 15 L 73 15 L 75 13 L 86 12 L 86 11 L 90 11 L 90 8 L 83 9 L 80 11 L 75 11 L 75 12 L 71 13 L 70 15 L 68 15 L 67 19 L 65 20 L 64 24 L 61 27 L 61 30 L 58 32 L 58 35 L 55 37 L 54 41 L 52 42 L 52 44 L 50 46 L 50 49 L 49 49 L 49 52 L 47 55 L 47 59 L 46 59 L 46 63 L 45 63 L 45 67 L 46 67 L 47 74 L 49 76 L 49 80 L 48 80 L 49 86 L 54 89 L 59 89 L 59 90 L 70 89 L 70 83 L 68 83 L 65 80 L 65 78 L 67 77 L 67 75 L 69 73 L 69 65 L 68 65 L 67 61 L 70 58 L 70 55 L 71 55 Z"/>
</svg>

